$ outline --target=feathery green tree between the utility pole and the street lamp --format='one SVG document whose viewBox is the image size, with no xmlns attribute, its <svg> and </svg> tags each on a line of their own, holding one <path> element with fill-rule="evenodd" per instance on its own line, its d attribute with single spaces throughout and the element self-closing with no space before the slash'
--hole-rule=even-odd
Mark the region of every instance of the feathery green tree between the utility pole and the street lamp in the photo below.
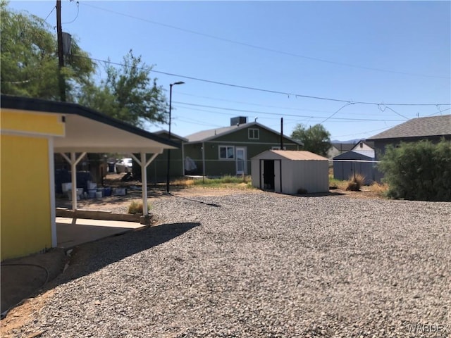
<svg viewBox="0 0 451 338">
<path fill-rule="evenodd" d="M 79 103 L 97 109 L 132 125 L 142 127 L 144 122 L 165 122 L 166 97 L 156 78 L 150 77 L 152 66 L 130 50 L 123 65 L 106 64 L 106 80 L 90 83 L 82 90 Z"/>
</svg>

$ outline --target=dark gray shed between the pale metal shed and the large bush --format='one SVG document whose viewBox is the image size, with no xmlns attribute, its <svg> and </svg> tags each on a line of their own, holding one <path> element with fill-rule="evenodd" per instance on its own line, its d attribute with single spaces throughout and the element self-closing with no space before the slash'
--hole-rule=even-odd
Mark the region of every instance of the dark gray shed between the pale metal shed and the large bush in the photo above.
<svg viewBox="0 0 451 338">
<path fill-rule="evenodd" d="M 333 158 L 333 178 L 349 180 L 355 173 L 365 177 L 365 184 L 371 184 L 374 181 L 374 165 L 374 158 L 357 151 L 347 151 Z"/>
</svg>

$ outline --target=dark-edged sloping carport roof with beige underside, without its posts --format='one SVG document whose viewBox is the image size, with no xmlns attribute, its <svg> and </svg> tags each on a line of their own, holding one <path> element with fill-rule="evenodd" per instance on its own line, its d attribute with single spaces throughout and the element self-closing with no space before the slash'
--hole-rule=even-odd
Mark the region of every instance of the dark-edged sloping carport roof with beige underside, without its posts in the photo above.
<svg viewBox="0 0 451 338">
<path fill-rule="evenodd" d="M 177 142 L 79 104 L 1 95 L 0 106 L 2 109 L 61 115 L 66 134 L 64 137 L 54 137 L 56 152 L 151 154 L 180 146 Z"/>
</svg>

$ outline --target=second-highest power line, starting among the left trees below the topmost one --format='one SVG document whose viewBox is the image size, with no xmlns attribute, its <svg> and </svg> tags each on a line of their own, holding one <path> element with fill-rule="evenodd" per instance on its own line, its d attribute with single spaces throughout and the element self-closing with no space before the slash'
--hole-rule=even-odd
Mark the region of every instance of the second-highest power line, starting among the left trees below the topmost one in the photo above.
<svg viewBox="0 0 451 338">
<path fill-rule="evenodd" d="M 92 61 L 111 63 L 112 65 L 124 66 L 123 63 L 117 63 L 117 62 L 113 62 L 113 61 L 101 60 L 99 58 L 90 58 L 88 56 L 80 56 L 80 55 L 73 55 L 73 56 L 76 56 L 76 57 L 79 57 L 79 58 L 89 58 Z M 243 85 L 240 85 L 240 84 L 230 84 L 230 83 L 226 83 L 226 82 L 220 82 L 220 81 L 214 81 L 214 80 L 206 80 L 206 79 L 201 79 L 199 77 L 192 77 L 192 76 L 187 76 L 187 75 L 180 75 L 180 74 L 175 74 L 175 73 L 162 72 L 162 71 L 153 70 L 153 69 L 151 70 L 151 72 L 158 73 L 158 74 L 169 75 L 169 76 L 175 76 L 175 77 L 183 77 L 183 78 L 189 79 L 189 80 L 208 82 L 208 83 L 213 83 L 213 84 L 220 84 L 220 85 L 228 86 L 228 87 L 249 89 L 249 90 L 255 90 L 255 91 L 258 91 L 258 92 L 266 92 L 266 93 L 272 93 L 272 94 L 283 94 L 283 95 L 288 96 L 288 98 L 290 98 L 290 96 L 292 96 L 292 97 L 295 97 L 295 98 L 302 97 L 304 99 L 316 99 L 316 100 L 323 100 L 323 101 L 335 101 L 335 102 L 342 102 L 342 103 L 345 103 L 345 104 L 368 104 L 368 105 L 373 105 L 373 106 L 381 106 L 381 105 L 383 105 L 383 106 L 450 106 L 451 105 L 451 104 L 382 104 L 382 103 L 377 103 L 377 102 L 331 99 L 331 98 L 321 97 L 321 96 L 311 96 L 311 95 L 295 94 L 295 93 L 289 93 L 289 92 L 278 92 L 276 90 L 271 90 L 271 89 L 261 89 L 261 88 L 256 88 L 256 87 L 243 86 Z"/>
</svg>

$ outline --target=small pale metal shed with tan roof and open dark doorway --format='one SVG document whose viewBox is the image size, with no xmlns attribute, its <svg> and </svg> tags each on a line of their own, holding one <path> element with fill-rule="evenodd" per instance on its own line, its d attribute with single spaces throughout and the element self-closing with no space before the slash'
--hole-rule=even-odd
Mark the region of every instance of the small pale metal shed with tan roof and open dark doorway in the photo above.
<svg viewBox="0 0 451 338">
<path fill-rule="evenodd" d="M 252 185 L 283 194 L 328 192 L 328 159 L 310 151 L 268 150 L 254 156 Z"/>
</svg>

